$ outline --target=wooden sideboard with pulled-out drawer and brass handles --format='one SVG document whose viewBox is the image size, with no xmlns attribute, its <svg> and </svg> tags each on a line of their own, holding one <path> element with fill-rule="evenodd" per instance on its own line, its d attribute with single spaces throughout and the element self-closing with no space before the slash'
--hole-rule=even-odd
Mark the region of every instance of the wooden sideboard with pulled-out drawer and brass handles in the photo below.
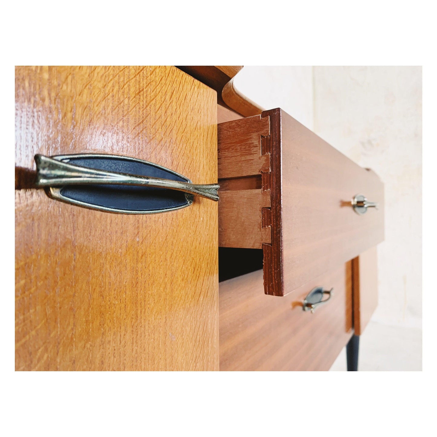
<svg viewBox="0 0 437 437">
<path fill-rule="evenodd" d="M 357 370 L 383 184 L 241 68 L 16 67 L 16 370 Z"/>
</svg>

